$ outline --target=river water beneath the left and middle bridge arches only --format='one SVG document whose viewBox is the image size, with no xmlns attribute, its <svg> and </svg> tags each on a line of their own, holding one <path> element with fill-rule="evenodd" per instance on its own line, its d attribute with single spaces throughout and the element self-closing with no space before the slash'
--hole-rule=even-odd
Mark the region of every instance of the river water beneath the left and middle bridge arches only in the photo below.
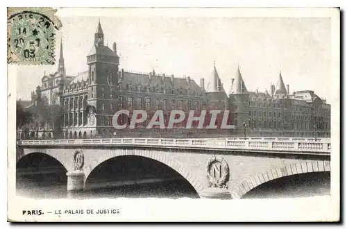
<svg viewBox="0 0 347 229">
<path fill-rule="evenodd" d="M 94 185 L 95 186 L 95 185 Z M 96 184 L 96 186 L 98 186 Z M 99 188 L 83 192 L 67 192 L 67 185 L 62 183 L 17 183 L 17 195 L 30 198 L 198 198 L 198 195 L 179 180 L 156 181 L 132 185 L 102 183 Z"/>
</svg>

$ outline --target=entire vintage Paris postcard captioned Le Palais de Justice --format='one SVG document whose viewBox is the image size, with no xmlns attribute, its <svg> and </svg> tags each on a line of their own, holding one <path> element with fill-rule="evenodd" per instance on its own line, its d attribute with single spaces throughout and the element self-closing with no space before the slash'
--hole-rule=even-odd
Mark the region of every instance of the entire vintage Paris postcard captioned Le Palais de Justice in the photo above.
<svg viewBox="0 0 347 229">
<path fill-rule="evenodd" d="M 8 8 L 8 221 L 339 221 L 338 8 Z"/>
</svg>

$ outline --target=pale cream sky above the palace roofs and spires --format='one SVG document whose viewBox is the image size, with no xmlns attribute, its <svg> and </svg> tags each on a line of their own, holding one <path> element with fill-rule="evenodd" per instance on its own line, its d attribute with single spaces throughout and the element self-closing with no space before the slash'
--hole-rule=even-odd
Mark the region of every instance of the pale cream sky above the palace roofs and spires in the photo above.
<svg viewBox="0 0 347 229">
<path fill-rule="evenodd" d="M 314 90 L 329 101 L 331 88 L 331 28 L 329 18 L 290 17 L 110 17 L 64 15 L 57 31 L 56 62 L 60 37 L 68 75 L 87 70 L 100 18 L 105 44 L 117 42 L 119 69 L 190 76 L 205 85 L 214 62 L 226 92 L 239 65 L 248 90 L 269 91 L 279 71 L 293 90 Z M 55 66 L 23 65 L 17 70 L 17 97 L 30 99 L 44 71 Z M 30 80 L 29 80 L 30 79 Z"/>
</svg>

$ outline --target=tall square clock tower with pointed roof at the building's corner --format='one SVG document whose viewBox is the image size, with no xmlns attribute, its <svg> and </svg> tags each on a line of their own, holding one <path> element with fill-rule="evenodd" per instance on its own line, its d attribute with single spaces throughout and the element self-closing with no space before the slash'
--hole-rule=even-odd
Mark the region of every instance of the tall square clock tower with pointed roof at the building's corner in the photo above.
<svg viewBox="0 0 347 229">
<path fill-rule="evenodd" d="M 105 128 L 112 126 L 112 116 L 116 108 L 118 82 L 119 56 L 117 56 L 117 45 L 113 44 L 113 50 L 103 43 L 103 30 L 99 19 L 94 34 L 94 44 L 87 54 L 88 65 L 88 125 L 92 128 L 92 137 L 103 134 Z"/>
</svg>

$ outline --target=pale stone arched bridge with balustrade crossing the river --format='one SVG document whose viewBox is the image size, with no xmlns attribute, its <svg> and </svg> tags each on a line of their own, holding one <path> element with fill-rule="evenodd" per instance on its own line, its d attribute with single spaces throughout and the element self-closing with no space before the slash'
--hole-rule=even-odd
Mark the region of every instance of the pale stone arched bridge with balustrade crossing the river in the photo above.
<svg viewBox="0 0 347 229">
<path fill-rule="evenodd" d="M 214 156 L 228 164 L 229 176 L 223 188 L 232 198 L 241 198 L 251 189 L 278 178 L 330 172 L 330 139 L 325 138 L 17 141 L 16 162 L 32 153 L 43 153 L 58 160 L 68 171 L 67 189 L 71 191 L 84 189 L 92 171 L 103 162 L 121 156 L 149 158 L 174 169 L 199 196 L 210 186 L 208 162 Z"/>
</svg>

